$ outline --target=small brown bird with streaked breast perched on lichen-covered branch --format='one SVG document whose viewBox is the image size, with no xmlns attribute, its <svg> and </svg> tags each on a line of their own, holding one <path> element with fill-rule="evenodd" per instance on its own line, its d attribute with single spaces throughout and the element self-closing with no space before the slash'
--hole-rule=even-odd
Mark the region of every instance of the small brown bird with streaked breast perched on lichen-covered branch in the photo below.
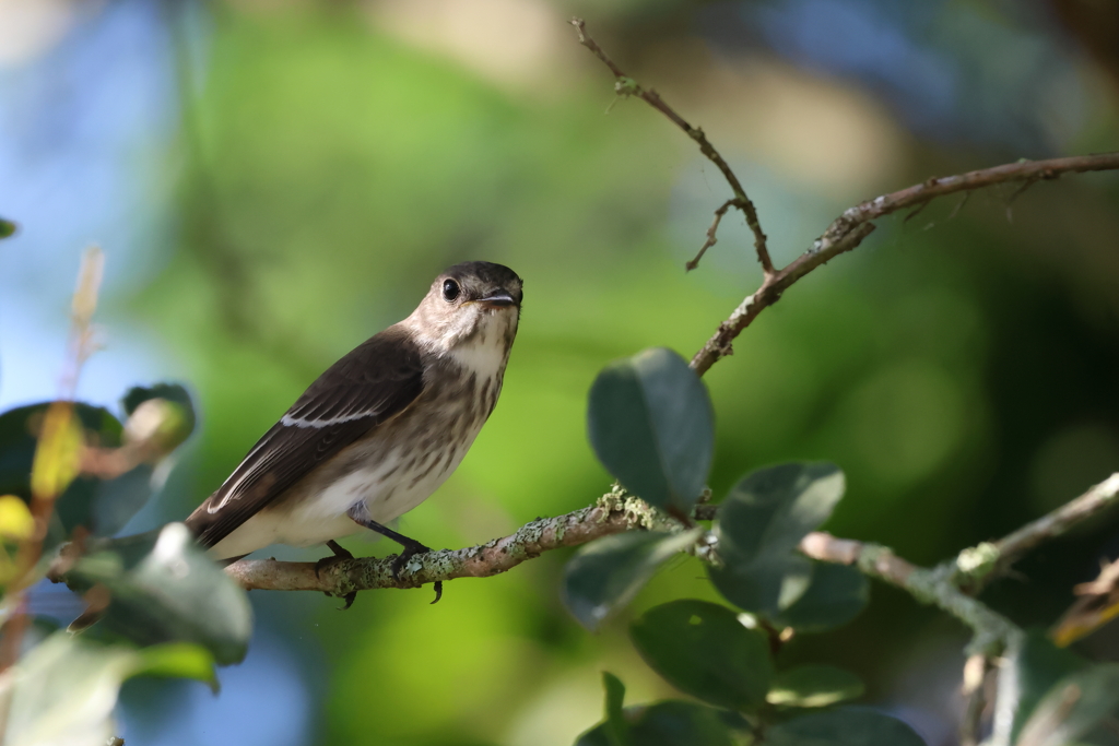
<svg viewBox="0 0 1119 746">
<path fill-rule="evenodd" d="M 387 528 L 458 468 L 497 405 L 523 282 L 463 262 L 406 319 L 330 366 L 256 442 L 186 525 L 215 560 L 272 544 L 326 544 L 365 529 L 403 547 L 393 574 L 431 549 Z M 356 594 L 346 596 L 346 606 Z M 442 583 L 435 584 L 435 603 Z"/>
</svg>

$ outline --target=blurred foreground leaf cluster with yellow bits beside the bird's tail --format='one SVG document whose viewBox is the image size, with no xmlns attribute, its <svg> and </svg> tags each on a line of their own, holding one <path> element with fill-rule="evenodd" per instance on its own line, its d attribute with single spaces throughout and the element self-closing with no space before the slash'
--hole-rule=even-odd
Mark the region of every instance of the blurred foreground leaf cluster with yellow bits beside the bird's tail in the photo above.
<svg viewBox="0 0 1119 746">
<path fill-rule="evenodd" d="M 215 663 L 247 650 L 244 591 L 185 526 L 113 538 L 160 492 L 195 426 L 190 396 L 178 385 L 135 387 L 122 413 L 45 402 L 0 414 L 0 603 L 18 605 L 50 575 L 87 606 L 69 632 L 47 635 L 2 678 L 10 743 L 92 743 L 91 734 L 104 742 L 125 679 L 186 677 L 216 688 Z"/>
</svg>

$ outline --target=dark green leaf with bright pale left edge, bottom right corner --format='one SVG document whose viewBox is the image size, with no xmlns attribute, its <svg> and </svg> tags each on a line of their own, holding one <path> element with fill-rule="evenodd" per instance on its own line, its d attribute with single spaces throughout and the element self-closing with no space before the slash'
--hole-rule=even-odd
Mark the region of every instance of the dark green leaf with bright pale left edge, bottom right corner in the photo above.
<svg viewBox="0 0 1119 746">
<path fill-rule="evenodd" d="M 1018 742 L 1023 725 L 1057 681 L 1089 664 L 1072 651 L 1054 645 L 1038 630 L 1028 632 L 1022 646 L 1008 658 L 998 677 L 991 737 L 994 744 L 1002 746 Z"/>
</svg>

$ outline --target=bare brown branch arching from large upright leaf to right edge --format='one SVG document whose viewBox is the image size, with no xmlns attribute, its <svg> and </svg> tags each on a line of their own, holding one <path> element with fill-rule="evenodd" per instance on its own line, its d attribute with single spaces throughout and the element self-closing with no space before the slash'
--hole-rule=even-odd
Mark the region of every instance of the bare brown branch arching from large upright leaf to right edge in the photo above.
<svg viewBox="0 0 1119 746">
<path fill-rule="evenodd" d="M 1065 173 L 1116 169 L 1119 169 L 1119 153 L 1053 158 L 1044 161 L 1022 160 L 959 176 L 932 178 L 901 191 L 875 197 L 848 208 L 828 226 L 822 236 L 812 243 L 811 248 L 797 257 L 789 266 L 765 276 L 761 287 L 749 295 L 734 310 L 734 313 L 720 324 L 718 331 L 692 358 L 692 368 L 702 376 L 716 360 L 730 355 L 732 351 L 731 342 L 758 318 L 763 309 L 777 303 L 781 294 L 792 283 L 816 267 L 863 243 L 863 239 L 874 230 L 873 221 L 883 216 L 910 207 L 922 206 L 944 195 L 961 191 L 967 193 L 998 183 L 1012 181 L 1032 183 L 1043 179 L 1056 179 Z"/>
</svg>

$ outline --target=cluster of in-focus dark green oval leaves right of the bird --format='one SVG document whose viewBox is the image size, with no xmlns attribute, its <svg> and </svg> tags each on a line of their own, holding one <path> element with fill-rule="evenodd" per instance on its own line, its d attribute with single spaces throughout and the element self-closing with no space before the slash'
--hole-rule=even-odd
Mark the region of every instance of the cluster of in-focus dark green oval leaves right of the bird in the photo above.
<svg viewBox="0 0 1119 746">
<path fill-rule="evenodd" d="M 681 598 L 634 620 L 630 640 L 645 661 L 698 701 L 627 708 L 624 686 L 605 673 L 605 718 L 579 746 L 922 743 L 886 715 L 833 707 L 863 693 L 854 673 L 829 665 L 778 670 L 774 661 L 783 635 L 844 624 L 866 604 L 867 583 L 857 570 L 797 553 L 843 497 L 843 472 L 805 463 L 747 474 L 720 503 L 708 535 L 689 516 L 714 454 L 713 407 L 683 358 L 653 349 L 612 363 L 591 389 L 587 421 L 599 459 L 622 487 L 681 527 L 583 547 L 564 577 L 571 613 L 593 631 L 669 558 L 712 544 L 717 557 L 708 578 L 734 608 Z"/>
</svg>

